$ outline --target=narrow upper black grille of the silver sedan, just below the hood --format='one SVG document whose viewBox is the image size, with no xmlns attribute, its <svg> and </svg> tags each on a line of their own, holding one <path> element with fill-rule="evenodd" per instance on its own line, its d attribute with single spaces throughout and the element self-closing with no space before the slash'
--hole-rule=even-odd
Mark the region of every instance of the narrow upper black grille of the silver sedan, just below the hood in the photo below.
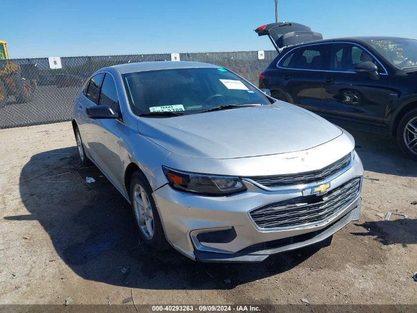
<svg viewBox="0 0 417 313">
<path fill-rule="evenodd" d="M 350 163 L 351 154 L 346 154 L 340 160 L 332 163 L 325 168 L 317 171 L 304 172 L 299 174 L 285 174 L 274 176 L 254 176 L 248 177 L 257 183 L 264 185 L 265 187 L 280 187 L 280 186 L 293 186 L 299 184 L 307 184 L 310 182 L 321 181 L 328 179 L 332 175 L 338 173 Z"/>
</svg>

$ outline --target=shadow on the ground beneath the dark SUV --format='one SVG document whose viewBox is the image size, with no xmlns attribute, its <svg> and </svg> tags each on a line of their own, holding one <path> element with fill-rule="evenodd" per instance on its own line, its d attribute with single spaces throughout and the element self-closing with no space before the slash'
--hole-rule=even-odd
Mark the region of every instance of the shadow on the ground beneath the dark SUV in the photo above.
<svg viewBox="0 0 417 313">
<path fill-rule="evenodd" d="M 355 138 L 355 150 L 366 171 L 417 177 L 417 162 L 401 152 L 395 138 L 347 127 L 345 129 Z"/>
</svg>

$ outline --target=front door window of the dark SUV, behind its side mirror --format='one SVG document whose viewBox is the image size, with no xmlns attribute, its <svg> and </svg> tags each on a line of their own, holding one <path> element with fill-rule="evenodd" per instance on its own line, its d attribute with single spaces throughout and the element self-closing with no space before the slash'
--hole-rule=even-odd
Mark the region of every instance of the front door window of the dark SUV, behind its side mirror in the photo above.
<svg viewBox="0 0 417 313">
<path fill-rule="evenodd" d="M 379 63 L 366 50 L 352 44 L 332 44 L 330 49 L 330 69 L 334 71 L 352 72 L 363 62 L 370 61 L 378 66 Z"/>
</svg>

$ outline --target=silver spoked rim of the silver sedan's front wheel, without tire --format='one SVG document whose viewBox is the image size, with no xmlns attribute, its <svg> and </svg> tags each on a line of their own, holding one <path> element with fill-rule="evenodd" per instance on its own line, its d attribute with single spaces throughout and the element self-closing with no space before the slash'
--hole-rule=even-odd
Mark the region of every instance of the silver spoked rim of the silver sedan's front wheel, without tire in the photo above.
<svg viewBox="0 0 417 313">
<path fill-rule="evenodd" d="M 139 229 L 146 239 L 151 240 L 154 230 L 152 206 L 145 188 L 140 184 L 133 189 L 133 208 Z"/>
</svg>

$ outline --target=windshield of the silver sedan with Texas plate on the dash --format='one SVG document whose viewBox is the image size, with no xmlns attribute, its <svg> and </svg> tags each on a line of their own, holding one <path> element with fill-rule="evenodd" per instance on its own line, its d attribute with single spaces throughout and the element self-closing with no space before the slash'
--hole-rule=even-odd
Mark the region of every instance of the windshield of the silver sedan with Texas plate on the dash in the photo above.
<svg viewBox="0 0 417 313">
<path fill-rule="evenodd" d="M 229 104 L 270 104 L 259 91 L 224 68 L 182 68 L 123 75 L 134 114 L 201 111 Z"/>
</svg>

